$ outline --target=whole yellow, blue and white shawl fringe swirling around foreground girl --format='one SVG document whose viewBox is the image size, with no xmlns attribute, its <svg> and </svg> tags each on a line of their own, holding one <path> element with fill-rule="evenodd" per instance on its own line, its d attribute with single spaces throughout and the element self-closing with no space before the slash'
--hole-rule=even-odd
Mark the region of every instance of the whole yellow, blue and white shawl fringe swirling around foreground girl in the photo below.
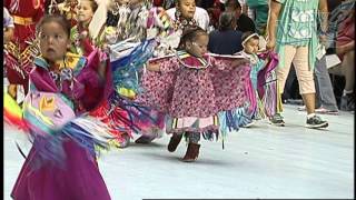
<svg viewBox="0 0 356 200">
<path fill-rule="evenodd" d="M 99 154 L 96 147 L 109 149 L 110 141 L 116 139 L 115 136 L 109 134 L 110 127 L 90 116 L 68 119 L 68 122 L 58 127 L 57 123 L 59 124 L 59 122 L 52 119 L 50 114 L 48 116 L 42 107 L 37 108 L 31 104 L 37 102 L 33 99 L 33 101 L 23 102 L 22 111 L 8 93 L 3 94 L 4 121 L 29 133 L 30 141 L 40 156 L 40 159 L 33 166 L 34 169 L 47 161 L 52 161 L 59 166 L 65 163 L 66 153 L 62 143 L 68 139 L 87 149 L 93 158 Z M 37 102 L 37 104 L 41 103 Z M 61 111 L 65 111 L 65 109 Z"/>
</svg>

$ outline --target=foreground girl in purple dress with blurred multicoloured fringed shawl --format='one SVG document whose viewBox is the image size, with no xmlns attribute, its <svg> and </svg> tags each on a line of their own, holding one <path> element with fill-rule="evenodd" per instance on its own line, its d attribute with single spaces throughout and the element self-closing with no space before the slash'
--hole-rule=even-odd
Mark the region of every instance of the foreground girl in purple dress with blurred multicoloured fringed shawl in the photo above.
<svg viewBox="0 0 356 200">
<path fill-rule="evenodd" d="M 96 162 L 96 146 L 108 147 L 108 128 L 86 113 L 109 93 L 108 71 L 98 54 L 67 52 L 70 24 L 47 16 L 39 26 L 41 57 L 30 73 L 23 121 L 32 138 L 13 199 L 109 200 Z"/>
</svg>

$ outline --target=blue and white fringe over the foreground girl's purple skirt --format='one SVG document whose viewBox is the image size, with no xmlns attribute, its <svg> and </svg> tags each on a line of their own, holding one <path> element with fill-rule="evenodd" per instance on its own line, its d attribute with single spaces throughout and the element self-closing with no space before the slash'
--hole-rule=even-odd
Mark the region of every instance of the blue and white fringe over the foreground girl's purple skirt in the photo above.
<svg viewBox="0 0 356 200">
<path fill-rule="evenodd" d="M 61 130 L 55 134 L 38 134 L 36 130 L 30 131 L 30 139 L 33 148 L 39 153 L 39 160 L 34 163 L 33 169 L 39 169 L 43 163 L 51 162 L 60 168 L 65 168 L 66 151 L 63 142 L 72 140 L 80 147 L 89 151 L 92 159 L 98 157 L 101 150 L 110 148 L 109 141 L 113 139 L 108 134 L 106 124 L 98 120 L 82 116 L 68 122 Z"/>
</svg>

